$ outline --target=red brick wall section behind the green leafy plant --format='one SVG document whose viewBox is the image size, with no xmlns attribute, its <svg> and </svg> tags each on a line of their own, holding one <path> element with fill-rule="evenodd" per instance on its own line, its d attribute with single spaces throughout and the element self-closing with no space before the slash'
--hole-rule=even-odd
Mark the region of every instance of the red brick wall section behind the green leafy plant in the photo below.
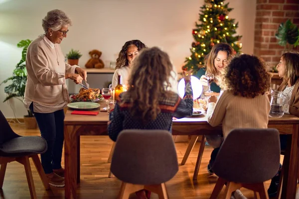
<svg viewBox="0 0 299 199">
<path fill-rule="evenodd" d="M 257 0 L 254 54 L 269 63 L 268 69 L 278 64 L 285 50 L 275 33 L 287 19 L 299 26 L 299 0 Z"/>
</svg>

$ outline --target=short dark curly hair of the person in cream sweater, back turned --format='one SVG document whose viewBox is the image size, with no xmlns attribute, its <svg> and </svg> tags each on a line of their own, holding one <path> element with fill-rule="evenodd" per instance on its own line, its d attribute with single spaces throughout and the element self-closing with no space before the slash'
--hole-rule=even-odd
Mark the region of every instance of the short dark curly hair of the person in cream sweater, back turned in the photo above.
<svg viewBox="0 0 299 199">
<path fill-rule="evenodd" d="M 221 87 L 235 96 L 255 98 L 270 88 L 270 75 L 265 64 L 253 55 L 236 56 L 222 73 Z"/>
</svg>

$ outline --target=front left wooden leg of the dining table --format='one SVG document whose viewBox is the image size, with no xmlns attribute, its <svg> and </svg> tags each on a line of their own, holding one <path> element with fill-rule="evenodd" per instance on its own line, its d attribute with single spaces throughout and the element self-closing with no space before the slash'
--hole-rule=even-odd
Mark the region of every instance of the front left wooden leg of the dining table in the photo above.
<svg viewBox="0 0 299 199">
<path fill-rule="evenodd" d="M 65 199 L 77 198 L 77 138 L 80 126 L 64 126 Z M 74 153 L 75 151 L 75 153 Z M 80 176 L 78 176 L 80 178 Z M 73 196 L 73 197 L 72 197 Z"/>
</svg>

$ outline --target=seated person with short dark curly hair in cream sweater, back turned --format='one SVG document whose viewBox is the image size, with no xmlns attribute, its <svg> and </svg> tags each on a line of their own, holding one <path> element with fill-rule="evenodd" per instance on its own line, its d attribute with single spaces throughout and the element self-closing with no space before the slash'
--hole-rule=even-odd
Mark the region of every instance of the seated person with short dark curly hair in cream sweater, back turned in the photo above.
<svg viewBox="0 0 299 199">
<path fill-rule="evenodd" d="M 268 128 L 269 78 L 263 62 L 246 54 L 233 58 L 223 70 L 220 85 L 224 92 L 218 101 L 214 96 L 208 99 L 207 119 L 211 126 L 222 123 L 224 139 L 234 128 Z M 211 167 L 219 149 L 212 151 Z M 233 195 L 244 197 L 240 190 Z"/>
</svg>

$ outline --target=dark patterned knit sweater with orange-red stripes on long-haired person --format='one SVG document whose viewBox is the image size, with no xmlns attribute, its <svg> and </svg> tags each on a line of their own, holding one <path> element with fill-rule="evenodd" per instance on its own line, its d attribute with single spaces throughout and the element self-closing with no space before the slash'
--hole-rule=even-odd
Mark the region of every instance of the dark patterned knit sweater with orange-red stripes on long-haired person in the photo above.
<svg viewBox="0 0 299 199">
<path fill-rule="evenodd" d="M 186 82 L 183 99 L 174 92 L 169 91 L 169 93 L 170 97 L 159 98 L 158 103 L 161 112 L 154 120 L 150 120 L 146 124 L 131 115 L 130 97 L 126 93 L 122 93 L 120 101 L 117 101 L 114 110 L 109 115 L 111 121 L 108 125 L 109 137 L 116 141 L 118 134 L 124 129 L 162 129 L 171 132 L 172 117 L 182 118 L 192 115 L 193 93 L 191 83 Z"/>
</svg>

